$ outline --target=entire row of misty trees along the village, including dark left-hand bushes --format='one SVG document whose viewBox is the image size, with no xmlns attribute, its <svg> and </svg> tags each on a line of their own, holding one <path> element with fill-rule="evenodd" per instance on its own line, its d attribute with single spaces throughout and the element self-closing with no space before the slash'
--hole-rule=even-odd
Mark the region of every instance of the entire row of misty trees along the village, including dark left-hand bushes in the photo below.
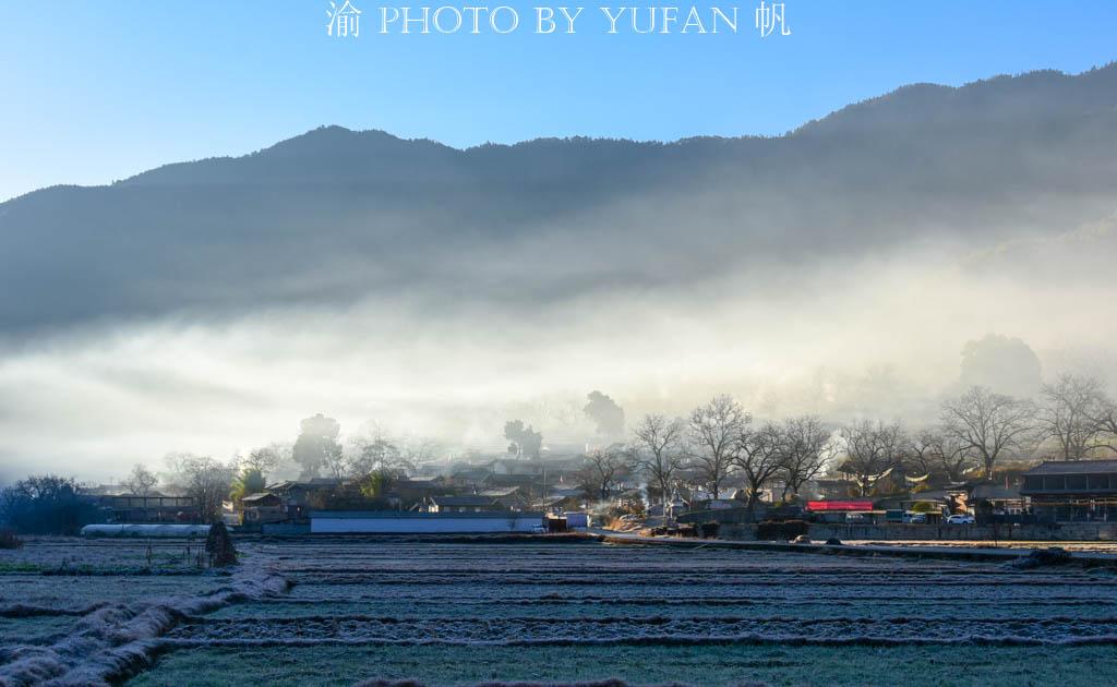
<svg viewBox="0 0 1117 687">
<path fill-rule="evenodd" d="M 584 409 L 602 436 L 624 430 L 624 414 L 609 397 L 594 391 Z M 168 481 L 192 497 L 201 517 L 216 522 L 222 502 L 262 492 L 283 465 L 295 465 L 300 479 L 328 478 L 354 498 L 375 499 L 391 481 L 437 457 L 424 439 L 394 439 L 372 426 L 341 441 L 333 418 L 302 421 L 290 445 L 273 443 L 221 461 L 194 454 L 166 457 Z M 542 432 L 512 421 L 505 426 L 509 451 L 538 458 Z M 623 442 L 589 451 L 577 478 L 590 498 L 609 498 L 626 478 L 642 478 L 652 500 L 667 500 L 679 487 L 722 496 L 727 480 L 745 486 L 754 509 L 765 488 L 781 500 L 794 499 L 804 485 L 832 473 L 846 476 L 858 495 L 868 495 L 891 470 L 916 477 L 939 475 L 948 481 L 993 475 L 1009 458 L 1083 460 L 1117 455 L 1117 402 L 1092 376 L 1062 374 L 1043 384 L 1035 399 L 1020 399 L 972 387 L 944 401 L 936 422 L 909 430 L 899 421 L 859 419 L 843 424 L 818 416 L 758 421 L 731 395 L 717 395 L 686 417 L 649 413 Z M 133 494 L 147 495 L 159 477 L 137 465 L 123 480 Z M 0 490 L 0 519 L 68 531 L 82 519 L 80 487 L 71 478 L 37 476 Z"/>
</svg>

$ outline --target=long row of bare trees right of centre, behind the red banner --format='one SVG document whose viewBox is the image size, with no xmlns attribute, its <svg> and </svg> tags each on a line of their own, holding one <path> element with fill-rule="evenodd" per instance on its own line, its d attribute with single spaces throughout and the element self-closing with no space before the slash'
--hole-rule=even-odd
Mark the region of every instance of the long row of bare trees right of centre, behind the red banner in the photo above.
<svg viewBox="0 0 1117 687">
<path fill-rule="evenodd" d="M 892 470 L 963 481 L 991 478 L 1008 458 L 1114 454 L 1117 402 L 1096 378 L 1062 374 L 1034 400 L 972 387 L 944 401 L 936 422 L 915 430 L 900 421 L 836 424 L 818 416 L 756 422 L 736 399 L 717 395 L 686 417 L 643 416 L 626 443 L 592 451 L 581 477 L 589 494 L 605 498 L 620 478 L 639 475 L 659 500 L 680 486 L 718 498 L 737 478 L 752 511 L 765 488 L 777 487 L 785 502 L 823 474 L 840 473 L 865 496 Z"/>
</svg>

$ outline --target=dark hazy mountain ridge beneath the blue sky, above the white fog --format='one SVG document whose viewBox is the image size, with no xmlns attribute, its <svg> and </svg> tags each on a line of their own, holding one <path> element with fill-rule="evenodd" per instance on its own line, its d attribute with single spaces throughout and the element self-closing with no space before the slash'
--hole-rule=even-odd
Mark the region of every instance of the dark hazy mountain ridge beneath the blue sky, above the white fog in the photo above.
<svg viewBox="0 0 1117 687">
<path fill-rule="evenodd" d="M 1108 217 L 1117 66 L 914 85 L 781 137 L 455 150 L 314 130 L 0 204 L 0 327 L 422 292 L 523 305 Z"/>
</svg>

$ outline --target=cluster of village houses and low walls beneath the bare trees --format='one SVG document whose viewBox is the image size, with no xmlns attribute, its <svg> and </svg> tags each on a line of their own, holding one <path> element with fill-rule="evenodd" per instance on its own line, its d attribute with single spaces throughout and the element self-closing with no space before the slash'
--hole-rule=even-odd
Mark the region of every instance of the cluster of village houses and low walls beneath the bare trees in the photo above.
<svg viewBox="0 0 1117 687">
<path fill-rule="evenodd" d="M 639 522 L 747 522 L 806 518 L 820 522 L 1048 523 L 1117 521 L 1117 460 L 1044 461 L 1008 466 L 995 480 L 911 479 L 884 476 L 876 493 L 851 497 L 849 476 L 839 470 L 808 485 L 802 499 L 780 500 L 776 485 L 746 508 L 744 484 L 729 478 L 720 498 L 686 486 L 667 498 L 649 498 L 638 476 L 622 477 L 609 497 L 580 486 L 581 456 L 546 459 L 494 458 L 481 462 L 429 465 L 392 481 L 375 509 L 331 500 L 331 478 L 268 485 L 239 503 L 227 502 L 227 524 L 259 532 L 533 531 L 546 516 L 571 528 L 631 514 Z M 886 484 L 887 483 L 887 484 Z M 658 496 L 658 495 L 657 495 Z M 98 497 L 105 519 L 115 523 L 189 523 L 198 509 L 184 496 L 159 493 Z M 958 515 L 968 517 L 957 517 Z M 954 515 L 955 517 L 951 517 Z M 745 519 L 747 518 L 747 521 Z"/>
</svg>

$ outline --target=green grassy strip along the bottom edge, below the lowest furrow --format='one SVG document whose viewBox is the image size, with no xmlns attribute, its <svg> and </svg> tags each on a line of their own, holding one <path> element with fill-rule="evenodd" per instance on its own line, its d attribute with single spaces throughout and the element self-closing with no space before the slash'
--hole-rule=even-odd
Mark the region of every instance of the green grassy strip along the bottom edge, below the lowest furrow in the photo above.
<svg viewBox="0 0 1117 687">
<path fill-rule="evenodd" d="M 493 680 L 629 684 L 1088 685 L 1117 675 L 1111 647 L 277 647 L 206 648 L 162 656 L 134 685 L 428 685 Z"/>
</svg>

